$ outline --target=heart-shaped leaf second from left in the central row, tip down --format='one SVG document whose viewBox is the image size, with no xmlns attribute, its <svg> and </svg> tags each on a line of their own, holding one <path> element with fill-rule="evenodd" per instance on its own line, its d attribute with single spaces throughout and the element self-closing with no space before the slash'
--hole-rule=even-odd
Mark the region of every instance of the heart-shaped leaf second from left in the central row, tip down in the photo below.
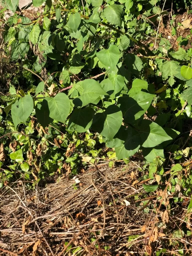
<svg viewBox="0 0 192 256">
<path fill-rule="evenodd" d="M 49 117 L 65 123 L 70 111 L 70 100 L 65 93 L 59 92 L 54 98 L 46 97 L 49 107 Z"/>
</svg>

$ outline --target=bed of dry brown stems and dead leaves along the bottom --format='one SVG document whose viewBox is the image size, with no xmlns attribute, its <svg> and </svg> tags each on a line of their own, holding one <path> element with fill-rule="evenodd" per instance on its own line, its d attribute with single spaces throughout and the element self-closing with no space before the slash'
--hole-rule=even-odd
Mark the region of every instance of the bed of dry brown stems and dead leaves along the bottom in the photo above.
<svg viewBox="0 0 192 256">
<path fill-rule="evenodd" d="M 79 176 L 77 186 L 74 180 L 61 178 L 33 191 L 22 182 L 5 187 L 0 204 L 1 255 L 77 255 L 78 247 L 78 255 L 156 255 L 163 248 L 167 248 L 163 255 L 179 255 L 180 243 L 190 255 L 191 238 L 172 235 L 183 225 L 191 226 L 186 210 L 178 207 L 175 216 L 169 210 L 167 221 L 162 221 L 165 204 L 168 209 L 172 198 L 166 189 L 162 194 L 159 189 L 159 200 L 150 194 L 149 200 L 135 201 L 135 196 L 145 194 L 137 166 L 90 168 Z"/>
</svg>

